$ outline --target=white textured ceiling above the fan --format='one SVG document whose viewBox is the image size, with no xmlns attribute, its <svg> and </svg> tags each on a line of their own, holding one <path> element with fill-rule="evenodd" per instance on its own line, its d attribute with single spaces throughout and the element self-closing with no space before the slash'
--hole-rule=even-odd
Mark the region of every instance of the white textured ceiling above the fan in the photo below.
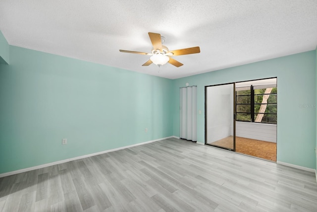
<svg viewBox="0 0 317 212">
<path fill-rule="evenodd" d="M 179 78 L 314 50 L 317 0 L 0 0 L 10 45 L 131 71 Z M 152 64 L 148 32 L 184 66 Z"/>
</svg>

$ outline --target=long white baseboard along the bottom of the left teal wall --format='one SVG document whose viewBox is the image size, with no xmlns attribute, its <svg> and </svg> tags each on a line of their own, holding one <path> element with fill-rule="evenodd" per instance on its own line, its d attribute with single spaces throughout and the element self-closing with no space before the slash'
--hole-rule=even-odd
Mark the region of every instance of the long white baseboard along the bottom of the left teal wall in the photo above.
<svg viewBox="0 0 317 212">
<path fill-rule="evenodd" d="M 69 159 L 65 159 L 65 160 L 58 160 L 58 161 L 55 161 L 55 162 L 52 162 L 52 163 L 46 163 L 46 164 L 42 164 L 42 165 L 38 165 L 38 166 L 33 166 L 33 167 L 29 167 L 29 168 L 19 169 L 19 170 L 16 170 L 16 171 L 6 172 L 6 173 L 0 174 L 0 178 L 1 177 L 6 177 L 6 176 L 9 176 L 9 175 L 13 175 L 13 174 L 19 174 L 19 173 L 26 172 L 26 171 L 32 171 L 32 170 L 35 170 L 35 169 L 40 169 L 40 168 L 44 168 L 44 167 L 48 167 L 48 166 L 53 166 L 53 165 L 60 164 L 60 163 L 65 163 L 65 162 L 69 162 L 69 161 L 73 161 L 73 160 L 78 160 L 78 159 L 82 159 L 82 158 L 86 158 L 86 157 L 91 157 L 91 156 L 95 156 L 95 155 L 98 155 L 98 154 L 104 154 L 104 153 L 111 152 L 111 151 L 117 151 L 117 150 L 120 150 L 120 149 L 130 148 L 130 147 L 133 147 L 133 146 L 143 145 L 143 144 L 146 144 L 146 143 L 152 143 L 152 142 L 155 142 L 155 141 L 161 141 L 161 140 L 164 140 L 164 139 L 170 139 L 170 138 L 173 138 L 173 136 L 162 138 L 162 139 L 157 139 L 157 140 L 153 140 L 153 141 L 146 141 L 146 142 L 142 142 L 142 143 L 136 143 L 136 144 L 132 144 L 132 145 L 128 145 L 128 146 L 122 146 L 122 147 L 119 147 L 119 148 L 108 149 L 108 150 L 105 150 L 105 151 L 96 152 L 96 153 L 92 153 L 92 154 L 86 154 L 86 155 L 73 157 L 73 158 L 69 158 Z"/>
</svg>

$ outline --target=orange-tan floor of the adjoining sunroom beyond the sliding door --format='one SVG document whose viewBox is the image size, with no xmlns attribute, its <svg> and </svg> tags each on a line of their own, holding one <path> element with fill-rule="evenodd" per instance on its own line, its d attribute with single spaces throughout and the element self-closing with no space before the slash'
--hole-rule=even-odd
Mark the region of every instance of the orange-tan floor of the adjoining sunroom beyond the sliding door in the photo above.
<svg viewBox="0 0 317 212">
<path fill-rule="evenodd" d="M 210 144 L 233 149 L 233 136 Z M 276 143 L 236 137 L 236 152 L 276 161 Z"/>
</svg>

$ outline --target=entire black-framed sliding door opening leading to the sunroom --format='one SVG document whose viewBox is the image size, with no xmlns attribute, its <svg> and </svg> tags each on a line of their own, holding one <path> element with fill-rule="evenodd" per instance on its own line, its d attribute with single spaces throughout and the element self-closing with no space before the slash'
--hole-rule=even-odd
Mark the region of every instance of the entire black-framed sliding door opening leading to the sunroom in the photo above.
<svg viewBox="0 0 317 212">
<path fill-rule="evenodd" d="M 277 80 L 205 86 L 205 144 L 276 162 Z"/>
</svg>

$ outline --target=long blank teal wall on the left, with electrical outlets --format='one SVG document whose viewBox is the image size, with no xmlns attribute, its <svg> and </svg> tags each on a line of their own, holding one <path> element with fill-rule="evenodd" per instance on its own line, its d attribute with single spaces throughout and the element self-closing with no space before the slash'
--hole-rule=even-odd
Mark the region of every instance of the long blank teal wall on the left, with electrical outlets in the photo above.
<svg viewBox="0 0 317 212">
<path fill-rule="evenodd" d="M 171 89 L 170 79 L 10 46 L 0 173 L 172 136 Z"/>
</svg>

